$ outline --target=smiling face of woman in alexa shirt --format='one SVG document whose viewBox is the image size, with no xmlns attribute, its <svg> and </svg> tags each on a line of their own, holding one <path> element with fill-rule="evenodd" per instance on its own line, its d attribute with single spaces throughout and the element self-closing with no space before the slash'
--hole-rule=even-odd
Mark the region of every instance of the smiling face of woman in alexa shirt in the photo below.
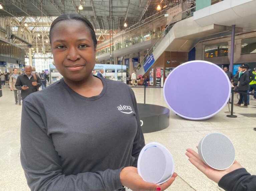
<svg viewBox="0 0 256 191">
<path fill-rule="evenodd" d="M 57 23 L 51 34 L 51 48 L 59 73 L 70 81 L 86 79 L 95 65 L 95 52 L 89 28 L 81 21 Z"/>
</svg>

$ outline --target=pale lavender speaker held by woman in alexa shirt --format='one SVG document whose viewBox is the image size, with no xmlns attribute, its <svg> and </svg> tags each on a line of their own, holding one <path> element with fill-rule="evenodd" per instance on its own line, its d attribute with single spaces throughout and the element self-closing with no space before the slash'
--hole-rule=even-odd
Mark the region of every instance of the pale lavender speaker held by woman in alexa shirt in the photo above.
<svg viewBox="0 0 256 191">
<path fill-rule="evenodd" d="M 174 167 L 172 154 L 160 143 L 149 143 L 140 152 L 138 173 L 146 182 L 163 184 L 172 177 Z"/>
</svg>

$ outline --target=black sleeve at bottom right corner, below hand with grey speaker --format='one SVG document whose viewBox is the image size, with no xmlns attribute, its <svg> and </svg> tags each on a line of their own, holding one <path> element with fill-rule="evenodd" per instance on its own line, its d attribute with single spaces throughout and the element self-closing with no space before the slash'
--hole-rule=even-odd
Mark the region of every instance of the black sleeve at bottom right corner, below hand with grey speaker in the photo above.
<svg viewBox="0 0 256 191">
<path fill-rule="evenodd" d="M 255 191 L 256 176 L 239 168 L 223 176 L 218 185 L 226 191 Z"/>
</svg>

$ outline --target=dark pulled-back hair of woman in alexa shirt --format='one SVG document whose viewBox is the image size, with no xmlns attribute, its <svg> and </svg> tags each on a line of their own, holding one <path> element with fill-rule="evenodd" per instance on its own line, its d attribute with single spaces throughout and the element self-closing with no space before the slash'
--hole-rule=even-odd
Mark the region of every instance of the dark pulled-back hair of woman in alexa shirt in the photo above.
<svg viewBox="0 0 256 191">
<path fill-rule="evenodd" d="M 50 32 L 49 32 L 50 44 L 51 44 L 51 34 L 52 34 L 52 30 L 53 30 L 54 26 L 61 21 L 70 21 L 70 20 L 81 21 L 82 23 L 84 23 L 87 26 L 87 28 L 89 29 L 90 34 L 91 34 L 94 48 L 96 48 L 97 38 L 96 38 L 96 34 L 94 32 L 92 24 L 85 17 L 78 15 L 78 14 L 62 14 L 52 22 L 51 27 L 50 27 Z M 70 26 L 70 27 L 72 27 L 72 26 Z"/>
</svg>

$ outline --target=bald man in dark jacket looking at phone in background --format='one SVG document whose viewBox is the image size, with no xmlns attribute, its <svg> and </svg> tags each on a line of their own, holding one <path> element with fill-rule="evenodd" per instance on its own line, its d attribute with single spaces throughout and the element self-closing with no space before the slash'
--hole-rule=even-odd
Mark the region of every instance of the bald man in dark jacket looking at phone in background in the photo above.
<svg viewBox="0 0 256 191">
<path fill-rule="evenodd" d="M 36 74 L 32 74 L 32 67 L 25 66 L 25 73 L 19 75 L 15 87 L 17 90 L 21 90 L 21 99 L 24 100 L 29 94 L 38 91 L 41 86 L 40 77 Z"/>
</svg>

